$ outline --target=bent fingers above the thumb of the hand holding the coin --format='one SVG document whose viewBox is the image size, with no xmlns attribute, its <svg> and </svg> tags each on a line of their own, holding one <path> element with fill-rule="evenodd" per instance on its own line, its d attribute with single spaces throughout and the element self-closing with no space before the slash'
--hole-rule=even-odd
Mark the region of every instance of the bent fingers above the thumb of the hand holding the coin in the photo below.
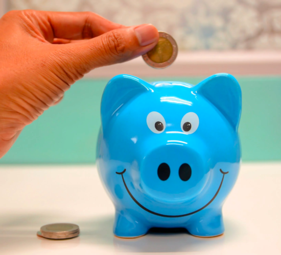
<svg viewBox="0 0 281 255">
<path fill-rule="evenodd" d="M 125 27 L 92 12 L 11 11 L 5 18 L 16 19 L 27 31 L 38 31 L 45 40 L 54 38 L 81 40 Z"/>
</svg>

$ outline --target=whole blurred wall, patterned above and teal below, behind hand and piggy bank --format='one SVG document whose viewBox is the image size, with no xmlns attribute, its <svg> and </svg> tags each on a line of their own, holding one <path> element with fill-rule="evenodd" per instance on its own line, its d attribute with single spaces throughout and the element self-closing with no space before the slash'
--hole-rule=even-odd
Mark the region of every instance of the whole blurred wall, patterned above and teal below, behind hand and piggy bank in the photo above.
<svg viewBox="0 0 281 255">
<path fill-rule="evenodd" d="M 125 25 L 152 23 L 180 52 L 165 70 L 141 58 L 93 70 L 27 126 L 0 164 L 95 163 L 100 100 L 115 74 L 197 84 L 229 72 L 243 95 L 243 161 L 281 160 L 281 0 L 0 0 L 0 11 L 92 11 Z M 0 166 L 1 167 L 1 166 Z"/>
</svg>

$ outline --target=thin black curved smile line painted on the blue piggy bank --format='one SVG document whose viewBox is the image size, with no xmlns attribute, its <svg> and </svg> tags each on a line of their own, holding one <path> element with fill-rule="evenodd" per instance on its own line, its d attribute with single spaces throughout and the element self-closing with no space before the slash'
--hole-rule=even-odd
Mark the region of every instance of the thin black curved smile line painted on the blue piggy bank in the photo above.
<svg viewBox="0 0 281 255">
<path fill-rule="evenodd" d="M 192 215 L 192 214 L 195 214 L 195 213 L 198 213 L 199 211 L 203 210 L 204 208 L 206 208 L 210 203 L 212 203 L 214 201 L 214 199 L 216 198 L 216 196 L 219 194 L 220 192 L 220 189 L 222 187 L 222 183 L 223 183 L 223 179 L 224 179 L 224 175 L 227 174 L 228 172 L 224 172 L 222 169 L 220 169 L 221 173 L 223 174 L 222 176 L 222 181 L 221 181 L 221 184 L 216 192 L 216 194 L 213 196 L 213 198 L 211 200 L 209 200 L 209 202 L 206 203 L 205 206 L 201 207 L 200 209 L 194 211 L 194 212 L 191 212 L 191 213 L 186 213 L 186 214 L 181 214 L 181 215 L 166 215 L 166 214 L 160 214 L 160 213 L 155 213 L 149 209 L 147 209 L 146 207 L 144 207 L 143 205 L 141 205 L 135 198 L 134 196 L 132 195 L 132 193 L 129 191 L 127 185 L 126 185 L 126 182 L 124 180 L 124 176 L 123 174 L 126 172 L 126 169 L 124 169 L 124 171 L 122 172 L 116 172 L 117 174 L 121 174 L 122 176 L 122 180 L 123 180 L 123 183 L 124 183 L 124 186 L 128 192 L 128 194 L 130 195 L 130 197 L 134 200 L 134 202 L 142 209 L 144 209 L 145 211 L 151 213 L 151 214 L 154 214 L 154 215 L 157 215 L 157 216 L 160 216 L 160 217 L 166 217 L 166 218 L 179 218 L 179 217 L 184 217 L 184 216 L 189 216 L 189 215 Z"/>
</svg>

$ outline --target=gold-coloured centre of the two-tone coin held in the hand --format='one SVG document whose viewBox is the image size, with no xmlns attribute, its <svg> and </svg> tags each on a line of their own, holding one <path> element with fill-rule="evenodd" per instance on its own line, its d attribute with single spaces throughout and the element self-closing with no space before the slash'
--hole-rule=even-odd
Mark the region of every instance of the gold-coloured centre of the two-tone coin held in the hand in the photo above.
<svg viewBox="0 0 281 255">
<path fill-rule="evenodd" d="M 172 55 L 173 45 L 164 37 L 159 37 L 159 41 L 156 46 L 147 53 L 147 56 L 155 63 L 166 62 L 172 57 Z"/>
</svg>

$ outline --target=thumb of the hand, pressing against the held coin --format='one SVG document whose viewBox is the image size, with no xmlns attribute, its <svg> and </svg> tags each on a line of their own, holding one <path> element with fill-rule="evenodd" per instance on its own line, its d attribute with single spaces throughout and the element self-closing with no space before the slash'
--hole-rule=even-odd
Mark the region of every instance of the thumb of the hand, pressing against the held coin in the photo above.
<svg viewBox="0 0 281 255">
<path fill-rule="evenodd" d="M 69 43 L 57 53 L 64 66 L 80 74 L 125 62 L 145 54 L 158 42 L 159 34 L 152 24 L 111 30 L 98 37 Z"/>
</svg>

